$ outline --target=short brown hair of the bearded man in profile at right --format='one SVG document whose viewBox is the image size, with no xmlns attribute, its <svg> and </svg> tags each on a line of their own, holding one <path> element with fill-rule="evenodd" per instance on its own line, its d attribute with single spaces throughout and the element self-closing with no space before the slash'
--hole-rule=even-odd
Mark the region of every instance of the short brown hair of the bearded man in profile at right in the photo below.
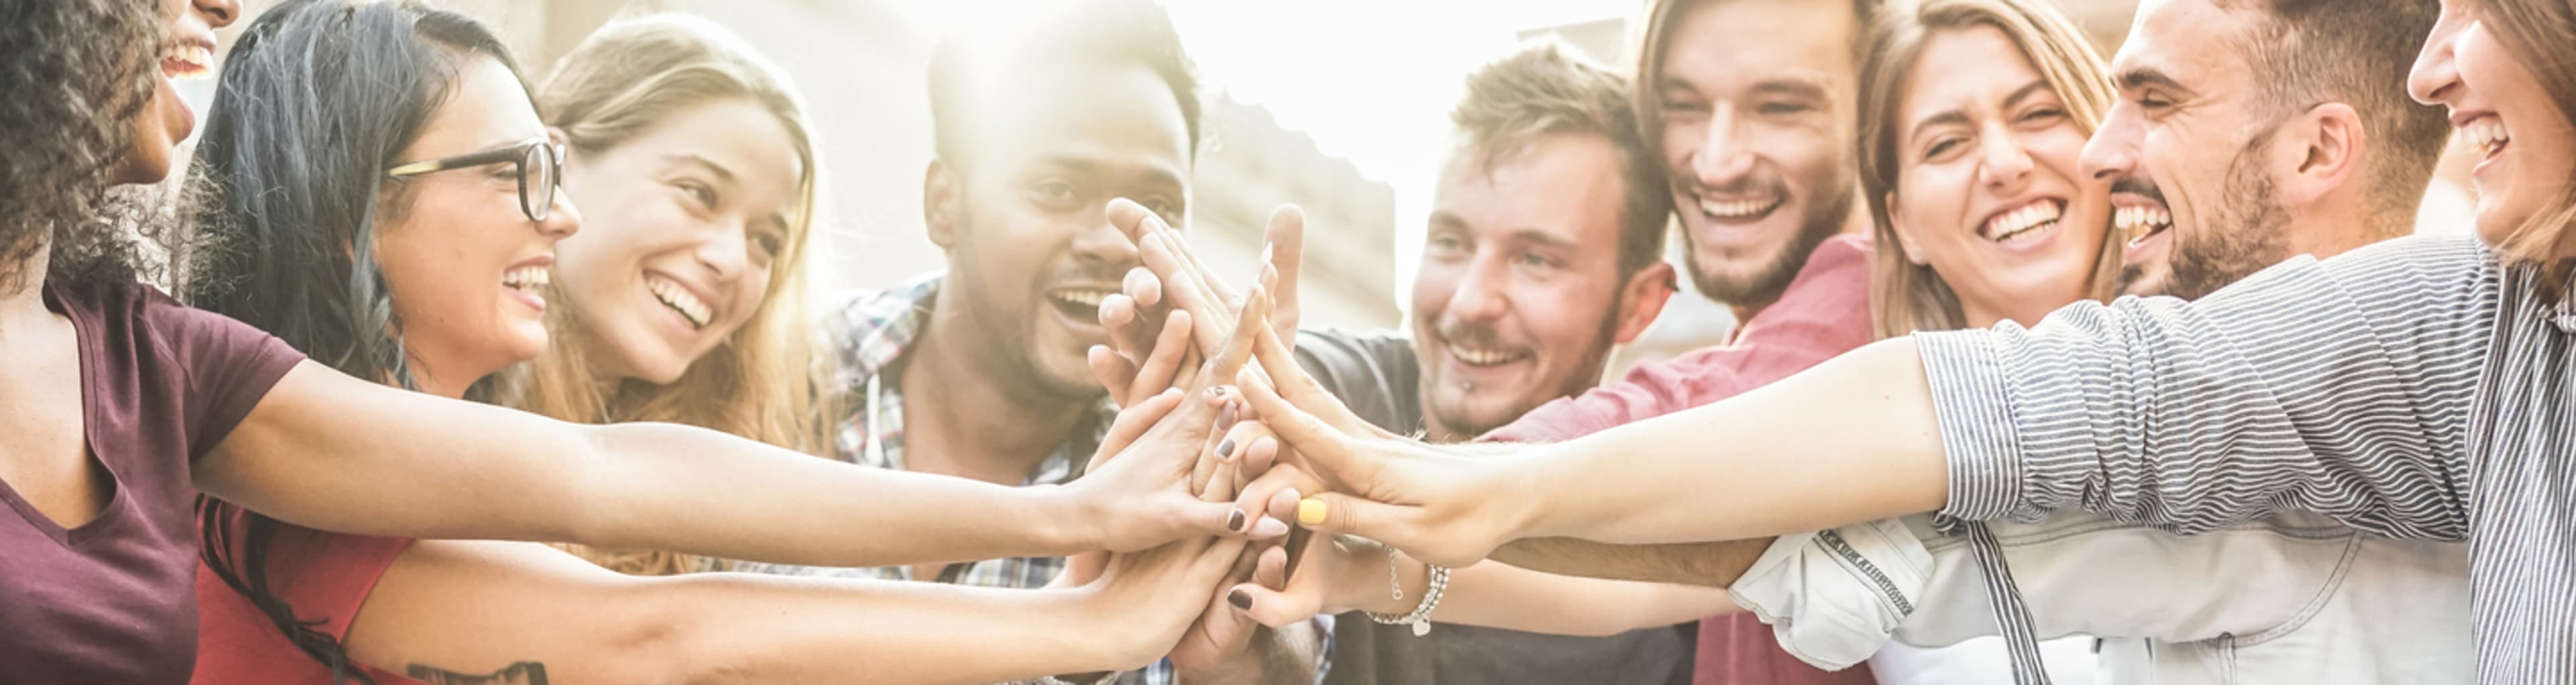
<svg viewBox="0 0 2576 685">
<path fill-rule="evenodd" d="M 2450 121 L 2442 108 L 2406 95 L 2406 72 L 2439 18 L 2434 0 L 2213 0 L 2226 10 L 2254 10 L 2251 36 L 2241 36 L 2259 103 L 2290 116 L 2321 103 L 2347 103 L 2370 131 L 2365 183 L 2370 229 L 2380 237 L 2414 232 L 2416 206 L 2442 157 Z"/>
</svg>

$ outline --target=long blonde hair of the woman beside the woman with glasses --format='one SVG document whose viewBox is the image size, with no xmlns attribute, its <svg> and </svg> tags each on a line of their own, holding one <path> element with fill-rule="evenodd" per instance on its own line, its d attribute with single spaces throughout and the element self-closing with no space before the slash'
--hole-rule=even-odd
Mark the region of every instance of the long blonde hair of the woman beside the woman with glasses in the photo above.
<svg viewBox="0 0 2576 685">
<path fill-rule="evenodd" d="M 804 98 L 786 72 L 714 21 L 677 13 L 639 15 L 611 21 L 564 54 L 554 77 L 538 90 L 536 106 L 546 124 L 567 134 L 574 155 L 598 155 L 690 106 L 734 98 L 770 111 L 788 131 L 804 167 L 786 250 L 773 260 L 760 309 L 716 350 L 690 363 L 677 381 L 626 379 L 613 389 L 603 389 L 590 371 L 580 345 L 590 335 L 580 314 L 567 312 L 554 322 L 556 345 L 536 361 L 520 409 L 572 422 L 685 422 L 809 453 L 827 446 L 817 384 L 822 368 L 804 299 L 819 160 Z M 626 574 L 729 567 L 721 559 L 672 551 L 564 549 Z"/>
</svg>

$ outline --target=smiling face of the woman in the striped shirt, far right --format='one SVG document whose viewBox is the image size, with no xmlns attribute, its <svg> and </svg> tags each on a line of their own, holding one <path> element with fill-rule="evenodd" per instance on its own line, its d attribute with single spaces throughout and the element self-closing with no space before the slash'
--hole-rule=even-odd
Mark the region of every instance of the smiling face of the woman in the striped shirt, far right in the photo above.
<svg viewBox="0 0 2576 685">
<path fill-rule="evenodd" d="M 2450 108 L 2450 124 L 2478 155 L 2478 237 L 2506 245 L 2535 214 L 2571 191 L 2576 126 L 2540 77 L 2499 41 L 2476 3 L 2445 0 L 2409 75 L 2416 100 Z"/>
</svg>

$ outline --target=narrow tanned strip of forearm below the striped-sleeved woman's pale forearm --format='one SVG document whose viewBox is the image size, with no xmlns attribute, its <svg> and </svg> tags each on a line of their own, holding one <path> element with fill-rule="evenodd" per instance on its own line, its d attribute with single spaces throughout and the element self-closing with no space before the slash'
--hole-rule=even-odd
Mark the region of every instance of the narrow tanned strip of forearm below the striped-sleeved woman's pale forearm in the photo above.
<svg viewBox="0 0 2576 685">
<path fill-rule="evenodd" d="M 1718 543 L 1618 546 L 1579 538 L 1522 538 L 1494 549 L 1494 561 L 1566 577 L 1728 587 L 1762 559 L 1770 538 Z"/>
</svg>

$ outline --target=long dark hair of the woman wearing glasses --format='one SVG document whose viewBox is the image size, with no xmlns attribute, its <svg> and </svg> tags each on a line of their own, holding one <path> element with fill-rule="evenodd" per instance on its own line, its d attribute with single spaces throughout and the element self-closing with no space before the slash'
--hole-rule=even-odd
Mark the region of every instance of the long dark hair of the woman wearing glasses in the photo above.
<svg viewBox="0 0 2576 685">
<path fill-rule="evenodd" d="M 518 72 L 489 28 L 417 0 L 289 0 L 263 13 L 224 57 L 196 149 L 204 245 L 183 268 L 183 299 L 343 373 L 415 389 L 374 260 L 376 234 L 407 203 L 384 170 L 420 139 L 469 59 Z M 489 399 L 489 384 L 466 397 Z M 343 646 L 268 587 L 278 523 L 222 500 L 198 500 L 198 512 L 206 567 L 299 649 L 350 675 Z M 240 546 L 227 528 L 234 515 L 250 523 Z"/>
</svg>

